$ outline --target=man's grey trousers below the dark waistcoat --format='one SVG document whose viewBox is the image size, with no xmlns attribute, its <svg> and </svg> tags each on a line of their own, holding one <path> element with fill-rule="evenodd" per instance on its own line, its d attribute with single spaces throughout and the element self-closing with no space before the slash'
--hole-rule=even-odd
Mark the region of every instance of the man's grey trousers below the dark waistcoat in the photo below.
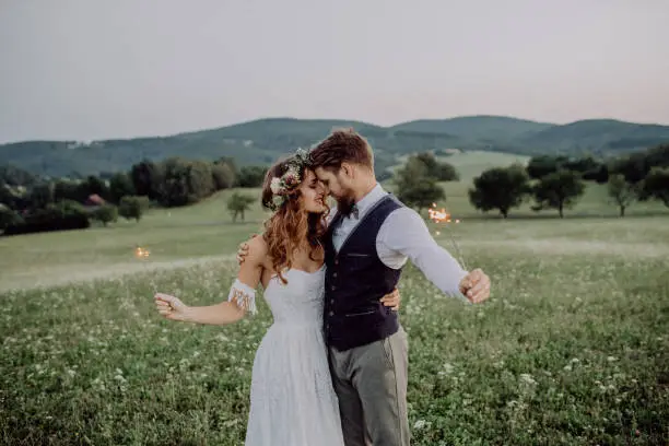
<svg viewBox="0 0 669 446">
<path fill-rule="evenodd" d="M 345 446 L 409 446 L 403 328 L 367 345 L 329 348 Z"/>
</svg>

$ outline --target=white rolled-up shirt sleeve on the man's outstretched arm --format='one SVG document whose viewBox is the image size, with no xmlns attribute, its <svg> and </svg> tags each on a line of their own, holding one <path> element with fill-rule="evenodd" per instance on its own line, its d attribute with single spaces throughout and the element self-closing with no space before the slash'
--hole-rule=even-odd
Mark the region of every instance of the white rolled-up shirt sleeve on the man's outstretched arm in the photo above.
<svg viewBox="0 0 669 446">
<path fill-rule="evenodd" d="M 376 249 L 390 268 L 400 268 L 410 259 L 444 294 L 465 298 L 459 284 L 468 272 L 435 242 L 414 210 L 400 208 L 388 215 L 378 233 Z"/>
</svg>

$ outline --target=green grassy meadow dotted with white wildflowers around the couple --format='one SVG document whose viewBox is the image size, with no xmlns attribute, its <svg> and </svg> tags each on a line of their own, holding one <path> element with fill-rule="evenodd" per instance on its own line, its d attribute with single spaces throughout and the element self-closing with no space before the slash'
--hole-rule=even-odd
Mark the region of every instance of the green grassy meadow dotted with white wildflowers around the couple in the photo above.
<svg viewBox="0 0 669 446">
<path fill-rule="evenodd" d="M 485 159 L 461 162 L 476 175 Z M 412 444 L 668 444 L 669 213 L 649 203 L 618 219 L 590 187 L 572 218 L 482 219 L 467 186 L 445 185 L 462 223 L 431 228 L 489 272 L 492 296 L 465 306 L 406 270 Z M 263 213 L 232 224 L 226 196 L 0 238 L 0 443 L 243 444 L 269 308 L 202 327 L 161 319 L 152 301 L 156 289 L 189 304 L 227 294 L 236 246 Z"/>
</svg>

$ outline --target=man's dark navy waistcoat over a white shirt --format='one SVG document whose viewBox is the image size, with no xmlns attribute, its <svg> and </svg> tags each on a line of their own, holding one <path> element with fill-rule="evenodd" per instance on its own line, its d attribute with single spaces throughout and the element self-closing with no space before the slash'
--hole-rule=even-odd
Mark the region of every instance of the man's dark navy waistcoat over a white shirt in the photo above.
<svg viewBox="0 0 669 446">
<path fill-rule="evenodd" d="M 367 211 L 349 234 L 339 253 L 332 245 L 336 215 L 325 236 L 325 334 L 329 345 L 348 350 L 395 333 L 397 312 L 379 300 L 392 292 L 401 269 L 388 268 L 376 253 L 376 236 L 386 218 L 402 207 L 388 195 Z"/>
</svg>

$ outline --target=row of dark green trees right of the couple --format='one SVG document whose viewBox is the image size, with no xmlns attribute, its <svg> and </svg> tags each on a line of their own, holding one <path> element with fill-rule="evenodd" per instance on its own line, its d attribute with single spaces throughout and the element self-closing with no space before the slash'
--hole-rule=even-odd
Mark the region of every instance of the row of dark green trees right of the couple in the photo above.
<svg viewBox="0 0 669 446">
<path fill-rule="evenodd" d="M 430 153 L 412 156 L 396 173 L 398 198 L 419 211 L 444 199 L 444 190 L 436 181 L 450 179 L 439 179 L 434 174 L 430 166 L 435 163 Z M 669 207 L 669 144 L 602 161 L 591 156 L 535 156 L 527 165 L 484 171 L 473 179 L 468 196 L 476 209 L 497 210 L 503 218 L 528 200 L 533 200 L 533 211 L 553 209 L 563 218 L 564 211 L 584 195 L 586 181 L 606 184 L 621 216 L 634 201 L 658 200 Z"/>
</svg>

